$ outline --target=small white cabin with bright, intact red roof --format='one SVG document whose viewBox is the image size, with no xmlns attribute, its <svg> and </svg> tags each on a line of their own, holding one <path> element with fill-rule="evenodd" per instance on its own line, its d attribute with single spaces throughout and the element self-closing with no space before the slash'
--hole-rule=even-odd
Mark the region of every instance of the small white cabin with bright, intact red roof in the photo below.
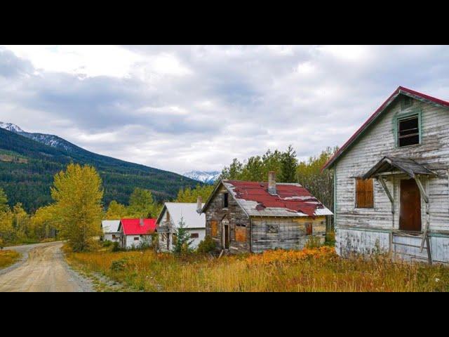
<svg viewBox="0 0 449 337">
<path fill-rule="evenodd" d="M 121 219 L 119 225 L 121 248 L 137 249 L 151 244 L 156 219 Z"/>
</svg>

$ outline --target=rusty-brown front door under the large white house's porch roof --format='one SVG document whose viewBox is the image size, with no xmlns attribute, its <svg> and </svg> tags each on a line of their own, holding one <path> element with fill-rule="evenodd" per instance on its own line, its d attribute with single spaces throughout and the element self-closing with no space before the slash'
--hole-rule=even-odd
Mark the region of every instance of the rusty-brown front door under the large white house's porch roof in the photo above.
<svg viewBox="0 0 449 337">
<path fill-rule="evenodd" d="M 414 179 L 401 180 L 399 229 L 421 232 L 421 194 Z"/>
</svg>

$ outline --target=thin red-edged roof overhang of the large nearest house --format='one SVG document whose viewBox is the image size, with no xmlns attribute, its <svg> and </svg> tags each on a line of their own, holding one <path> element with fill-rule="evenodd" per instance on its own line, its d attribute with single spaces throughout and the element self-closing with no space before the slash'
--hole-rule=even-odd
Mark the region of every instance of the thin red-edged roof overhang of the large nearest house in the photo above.
<svg viewBox="0 0 449 337">
<path fill-rule="evenodd" d="M 363 123 L 363 125 L 360 128 L 358 128 L 356 133 L 354 133 L 354 135 L 352 135 L 351 138 L 349 138 L 349 140 L 347 140 L 347 142 L 344 143 L 344 145 L 340 147 L 340 149 L 337 152 L 335 152 L 335 154 L 328 160 L 328 162 L 324 164 L 321 171 L 325 169 L 331 169 L 334 166 L 337 159 L 339 159 L 342 156 L 342 154 L 346 150 L 348 150 L 349 147 L 351 147 L 351 145 L 353 145 L 356 142 L 356 140 L 358 140 L 358 138 L 360 138 L 360 136 L 364 133 L 364 131 L 366 131 L 366 129 L 369 128 L 374 123 L 374 121 L 376 121 L 377 118 L 383 114 L 385 110 L 387 110 L 387 108 L 391 105 L 391 103 L 393 103 L 394 100 L 396 100 L 398 95 L 406 95 L 411 98 L 415 98 L 416 100 L 421 100 L 422 102 L 425 103 L 431 103 L 438 107 L 449 108 L 449 102 L 446 102 L 445 100 L 440 100 L 439 98 L 435 98 L 426 95 L 424 93 L 419 93 L 417 91 L 404 88 L 403 86 L 399 86 L 396 89 L 396 91 L 394 91 L 394 93 L 392 93 L 389 96 L 389 98 L 387 98 L 387 100 L 384 103 L 382 103 L 380 107 L 377 108 L 377 110 L 370 116 L 370 118 L 368 118 L 368 120 L 365 123 Z"/>
</svg>

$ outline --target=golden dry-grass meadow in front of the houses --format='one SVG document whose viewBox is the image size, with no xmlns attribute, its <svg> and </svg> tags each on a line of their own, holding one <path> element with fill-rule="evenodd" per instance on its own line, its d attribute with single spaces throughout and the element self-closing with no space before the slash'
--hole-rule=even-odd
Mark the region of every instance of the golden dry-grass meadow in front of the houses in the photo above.
<svg viewBox="0 0 449 337">
<path fill-rule="evenodd" d="M 71 253 L 83 272 L 128 291 L 449 291 L 449 268 L 393 262 L 386 256 L 342 259 L 333 247 L 241 256 L 146 251 Z"/>
</svg>

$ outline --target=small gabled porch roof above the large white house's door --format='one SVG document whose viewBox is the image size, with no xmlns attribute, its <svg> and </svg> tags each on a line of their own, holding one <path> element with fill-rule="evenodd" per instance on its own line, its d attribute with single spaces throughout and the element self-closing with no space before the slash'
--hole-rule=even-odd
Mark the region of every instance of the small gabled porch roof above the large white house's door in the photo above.
<svg viewBox="0 0 449 337">
<path fill-rule="evenodd" d="M 378 176 L 381 173 L 390 171 L 400 171 L 400 173 L 408 174 L 411 178 L 415 178 L 417 175 L 435 175 L 435 173 L 427 169 L 426 166 L 418 164 L 413 159 L 388 156 L 380 159 L 370 171 L 362 176 L 362 178 L 369 179 Z"/>
</svg>

